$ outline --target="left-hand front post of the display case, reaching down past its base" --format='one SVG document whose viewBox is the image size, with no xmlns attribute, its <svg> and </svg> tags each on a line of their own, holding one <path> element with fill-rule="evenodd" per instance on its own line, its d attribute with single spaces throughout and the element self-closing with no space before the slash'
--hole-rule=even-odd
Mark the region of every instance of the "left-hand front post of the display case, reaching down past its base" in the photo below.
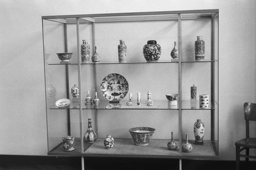
<svg viewBox="0 0 256 170">
<path fill-rule="evenodd" d="M 76 18 L 76 38 L 77 38 L 77 66 L 78 66 L 78 86 L 81 86 L 81 56 L 80 56 L 80 44 L 79 44 L 79 18 Z M 82 105 L 82 88 L 79 93 L 79 127 L 80 127 L 80 142 L 81 142 L 81 153 L 84 152 L 83 143 L 83 105 Z M 84 157 L 81 157 L 82 170 L 84 170 Z"/>
</svg>

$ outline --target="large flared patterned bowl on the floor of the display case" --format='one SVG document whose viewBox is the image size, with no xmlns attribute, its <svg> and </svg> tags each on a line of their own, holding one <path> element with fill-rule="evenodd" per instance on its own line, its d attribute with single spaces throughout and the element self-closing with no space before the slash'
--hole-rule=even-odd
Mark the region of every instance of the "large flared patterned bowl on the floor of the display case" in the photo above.
<svg viewBox="0 0 256 170">
<path fill-rule="evenodd" d="M 132 135 L 135 145 L 146 146 L 150 142 L 155 129 L 149 127 L 136 127 L 129 129 L 129 132 Z"/>
</svg>

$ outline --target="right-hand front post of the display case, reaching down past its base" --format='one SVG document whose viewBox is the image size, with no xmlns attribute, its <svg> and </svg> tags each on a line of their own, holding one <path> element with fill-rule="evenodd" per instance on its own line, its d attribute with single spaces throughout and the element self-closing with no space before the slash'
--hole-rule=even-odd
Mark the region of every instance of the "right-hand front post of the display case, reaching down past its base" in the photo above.
<svg viewBox="0 0 256 170">
<path fill-rule="evenodd" d="M 178 39 L 179 39 L 179 146 L 180 146 L 180 155 L 181 155 L 181 146 L 182 146 L 182 77 L 181 77 L 181 15 L 178 14 Z M 182 169 L 181 159 L 179 159 L 179 167 Z"/>
</svg>

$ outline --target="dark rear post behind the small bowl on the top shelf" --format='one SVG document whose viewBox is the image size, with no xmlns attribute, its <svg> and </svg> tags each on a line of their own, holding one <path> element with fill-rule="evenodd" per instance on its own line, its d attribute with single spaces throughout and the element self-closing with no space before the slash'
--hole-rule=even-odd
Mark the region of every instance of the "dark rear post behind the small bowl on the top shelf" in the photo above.
<svg viewBox="0 0 256 170">
<path fill-rule="evenodd" d="M 64 39 L 65 39 L 65 53 L 68 53 L 68 37 L 67 37 L 67 24 L 64 23 Z M 69 99 L 69 71 L 68 64 L 65 64 L 66 67 L 66 96 Z M 67 109 L 67 120 L 68 120 L 68 135 L 71 135 L 70 132 L 70 110 Z"/>
</svg>

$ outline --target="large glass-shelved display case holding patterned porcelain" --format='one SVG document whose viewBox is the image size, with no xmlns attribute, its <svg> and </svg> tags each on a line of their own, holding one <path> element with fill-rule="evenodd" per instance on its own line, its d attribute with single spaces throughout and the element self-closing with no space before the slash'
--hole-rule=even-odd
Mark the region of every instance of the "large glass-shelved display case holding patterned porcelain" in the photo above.
<svg viewBox="0 0 256 170">
<path fill-rule="evenodd" d="M 83 158 L 91 156 L 218 157 L 218 18 L 219 10 L 42 16 L 48 155 L 79 156 L 82 168 Z M 197 36 L 203 37 L 199 46 Z M 161 55 L 154 61 L 143 55 L 148 40 L 161 46 Z M 171 56 L 174 42 L 179 50 L 177 58 Z M 127 47 L 125 58 L 118 54 L 121 44 Z M 199 60 L 195 54 L 198 48 L 204 53 Z M 58 53 L 71 53 L 71 58 L 61 61 Z M 95 53 L 99 61 L 92 60 Z M 106 94 L 106 86 L 120 88 L 113 82 L 125 90 Z M 74 97 L 75 85 L 79 93 Z M 86 97 L 93 100 L 95 92 L 99 105 L 86 103 Z M 167 100 L 167 94 L 178 94 L 177 103 Z M 206 107 L 201 95 L 209 97 Z M 116 96 L 121 100 L 110 99 Z M 199 143 L 194 136 L 197 120 L 203 122 L 203 142 Z M 134 127 L 155 129 L 148 145 L 134 144 L 129 132 Z M 91 143 L 84 139 L 88 128 L 97 134 Z M 178 143 L 175 150 L 167 147 L 171 132 Z M 108 134 L 114 138 L 111 149 L 104 145 Z M 186 134 L 193 147 L 188 152 L 182 149 Z M 68 146 L 63 141 L 67 136 L 74 137 L 74 149 L 63 149 Z"/>
</svg>

